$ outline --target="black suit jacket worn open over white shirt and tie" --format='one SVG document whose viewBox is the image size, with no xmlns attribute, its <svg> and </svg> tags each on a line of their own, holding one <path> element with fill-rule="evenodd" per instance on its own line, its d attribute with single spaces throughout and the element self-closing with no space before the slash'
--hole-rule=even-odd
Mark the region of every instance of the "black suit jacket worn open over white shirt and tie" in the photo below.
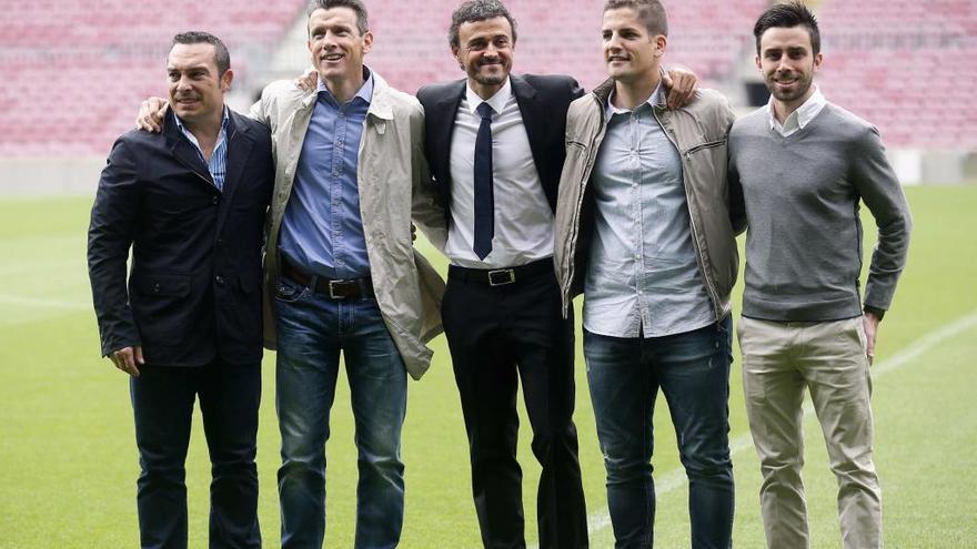
<svg viewBox="0 0 977 549">
<path fill-rule="evenodd" d="M 570 77 L 510 75 L 512 92 L 523 116 L 533 150 L 533 162 L 550 207 L 556 212 L 556 189 L 566 157 L 566 111 L 584 94 Z M 451 224 L 451 136 L 459 104 L 465 95 L 465 80 L 425 85 L 417 91 L 424 106 L 424 153 L 431 179 Z"/>
</svg>

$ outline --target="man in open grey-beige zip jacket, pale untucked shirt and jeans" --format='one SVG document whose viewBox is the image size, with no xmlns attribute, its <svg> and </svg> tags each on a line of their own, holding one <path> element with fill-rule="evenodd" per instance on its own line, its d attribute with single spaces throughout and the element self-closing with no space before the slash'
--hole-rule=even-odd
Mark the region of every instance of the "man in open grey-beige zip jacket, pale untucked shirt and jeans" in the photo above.
<svg viewBox="0 0 977 549">
<path fill-rule="evenodd" d="M 584 356 L 615 547 L 652 547 L 652 413 L 668 400 L 689 478 L 694 548 L 726 548 L 729 291 L 737 254 L 726 187 L 726 100 L 668 111 L 657 0 L 608 0 L 611 80 L 571 104 L 556 211 L 564 314 L 584 292 Z"/>
</svg>

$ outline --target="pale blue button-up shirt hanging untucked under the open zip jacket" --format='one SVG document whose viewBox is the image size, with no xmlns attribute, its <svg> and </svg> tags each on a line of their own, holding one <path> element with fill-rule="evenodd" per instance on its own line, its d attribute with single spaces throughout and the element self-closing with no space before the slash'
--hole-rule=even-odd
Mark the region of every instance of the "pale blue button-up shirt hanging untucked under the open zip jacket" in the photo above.
<svg viewBox="0 0 977 549">
<path fill-rule="evenodd" d="M 716 321 L 692 243 L 682 157 L 653 110 L 659 93 L 661 85 L 631 111 L 607 103 L 584 287 L 584 327 L 594 334 L 659 337 Z"/>
</svg>

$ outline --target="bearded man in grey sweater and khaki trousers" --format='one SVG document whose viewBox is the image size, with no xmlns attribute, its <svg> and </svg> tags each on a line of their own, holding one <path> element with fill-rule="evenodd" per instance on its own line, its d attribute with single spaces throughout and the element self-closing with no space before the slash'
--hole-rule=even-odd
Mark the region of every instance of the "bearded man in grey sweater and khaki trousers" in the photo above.
<svg viewBox="0 0 977 549">
<path fill-rule="evenodd" d="M 906 264 L 909 210 L 878 131 L 813 85 L 822 62 L 814 16 L 800 3 L 775 6 L 754 35 L 772 96 L 733 126 L 729 167 L 749 224 L 738 332 L 767 545 L 809 546 L 800 479 L 807 388 L 838 480 L 843 545 L 877 548 L 868 369 Z M 859 202 L 878 226 L 864 305 Z"/>
</svg>

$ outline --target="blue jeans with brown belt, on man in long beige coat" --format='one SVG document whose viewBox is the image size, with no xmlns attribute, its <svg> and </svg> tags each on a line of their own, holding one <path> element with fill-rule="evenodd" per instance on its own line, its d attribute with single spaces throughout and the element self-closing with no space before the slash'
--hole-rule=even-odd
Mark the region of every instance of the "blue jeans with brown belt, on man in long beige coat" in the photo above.
<svg viewBox="0 0 977 549">
<path fill-rule="evenodd" d="M 340 350 L 350 382 L 359 451 L 355 547 L 395 547 L 404 518 L 401 428 L 407 378 L 376 302 L 331 299 L 283 278 L 275 308 L 282 547 L 320 548 L 323 543 L 325 441 Z"/>
</svg>

